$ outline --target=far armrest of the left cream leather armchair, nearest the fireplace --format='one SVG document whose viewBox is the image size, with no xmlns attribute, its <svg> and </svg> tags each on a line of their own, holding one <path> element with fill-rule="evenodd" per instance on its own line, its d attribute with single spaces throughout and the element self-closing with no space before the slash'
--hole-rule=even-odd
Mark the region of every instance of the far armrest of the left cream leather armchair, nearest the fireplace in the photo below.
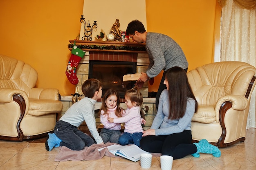
<svg viewBox="0 0 256 170">
<path fill-rule="evenodd" d="M 29 98 L 33 99 L 52 99 L 59 100 L 59 91 L 57 88 L 31 88 Z"/>
</svg>

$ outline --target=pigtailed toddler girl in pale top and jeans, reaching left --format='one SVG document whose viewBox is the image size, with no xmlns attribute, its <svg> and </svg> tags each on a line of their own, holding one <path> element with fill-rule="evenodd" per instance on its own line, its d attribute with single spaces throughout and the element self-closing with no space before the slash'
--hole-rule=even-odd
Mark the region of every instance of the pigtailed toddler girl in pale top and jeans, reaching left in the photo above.
<svg viewBox="0 0 256 170">
<path fill-rule="evenodd" d="M 125 123 L 124 134 L 119 137 L 118 143 L 121 145 L 135 144 L 140 146 L 139 141 L 143 135 L 143 128 L 141 122 L 140 107 L 143 103 L 143 96 L 139 92 L 139 88 L 135 87 L 128 90 L 125 94 L 127 109 L 124 117 L 113 118 L 109 117 L 110 123 Z"/>
</svg>

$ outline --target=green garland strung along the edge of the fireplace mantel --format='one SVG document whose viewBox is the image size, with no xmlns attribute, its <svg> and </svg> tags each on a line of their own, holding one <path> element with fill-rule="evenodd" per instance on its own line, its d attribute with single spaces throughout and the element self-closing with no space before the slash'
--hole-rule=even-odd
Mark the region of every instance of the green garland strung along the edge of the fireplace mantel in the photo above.
<svg viewBox="0 0 256 170">
<path fill-rule="evenodd" d="M 68 44 L 68 48 L 72 49 L 74 44 Z M 127 51 L 146 51 L 145 46 L 129 46 L 129 45 L 77 45 L 79 49 L 94 50 L 127 50 Z"/>
</svg>

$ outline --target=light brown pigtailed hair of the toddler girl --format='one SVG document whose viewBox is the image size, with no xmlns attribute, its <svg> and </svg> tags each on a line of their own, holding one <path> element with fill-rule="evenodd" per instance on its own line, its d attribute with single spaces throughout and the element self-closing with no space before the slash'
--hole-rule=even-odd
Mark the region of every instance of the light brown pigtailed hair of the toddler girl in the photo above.
<svg viewBox="0 0 256 170">
<path fill-rule="evenodd" d="M 137 103 L 136 106 L 139 106 L 141 108 L 143 104 L 143 96 L 139 92 L 139 88 L 137 86 L 126 91 L 125 97 L 130 99 L 131 102 L 136 102 Z M 142 108 L 140 109 L 140 115 L 143 119 L 145 119 L 145 115 L 144 115 L 144 112 L 142 111 Z"/>
</svg>

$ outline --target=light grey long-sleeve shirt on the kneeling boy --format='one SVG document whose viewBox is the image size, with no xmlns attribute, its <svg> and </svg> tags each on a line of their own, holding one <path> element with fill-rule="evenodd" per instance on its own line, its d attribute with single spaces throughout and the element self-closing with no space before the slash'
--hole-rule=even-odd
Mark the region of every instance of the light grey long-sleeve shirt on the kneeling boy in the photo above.
<svg viewBox="0 0 256 170">
<path fill-rule="evenodd" d="M 65 112 L 60 120 L 76 127 L 79 127 L 83 121 L 85 121 L 95 141 L 97 144 L 100 144 L 103 142 L 103 140 L 99 136 L 99 132 L 96 128 L 96 119 L 94 116 L 94 105 L 96 102 L 97 101 L 94 99 L 85 97 L 72 104 L 72 106 Z"/>
</svg>

